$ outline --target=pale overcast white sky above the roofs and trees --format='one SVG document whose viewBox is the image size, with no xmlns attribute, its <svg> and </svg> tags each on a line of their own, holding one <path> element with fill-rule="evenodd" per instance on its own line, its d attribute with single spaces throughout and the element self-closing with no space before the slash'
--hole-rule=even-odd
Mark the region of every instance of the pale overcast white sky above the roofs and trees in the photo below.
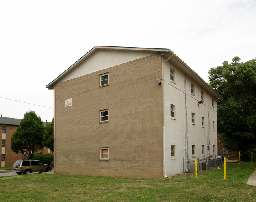
<svg viewBox="0 0 256 202">
<path fill-rule="evenodd" d="M 0 0 L 0 19 L 4 117 L 51 121 L 45 86 L 94 46 L 168 48 L 206 82 L 211 67 L 256 57 L 255 0 Z"/>
</svg>

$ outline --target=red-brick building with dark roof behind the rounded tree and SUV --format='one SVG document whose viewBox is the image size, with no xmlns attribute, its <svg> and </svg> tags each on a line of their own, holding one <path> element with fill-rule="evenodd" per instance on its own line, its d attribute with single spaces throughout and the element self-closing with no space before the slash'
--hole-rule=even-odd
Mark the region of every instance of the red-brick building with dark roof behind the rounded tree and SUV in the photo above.
<svg viewBox="0 0 256 202">
<path fill-rule="evenodd" d="M 0 117 L 0 134 L 2 137 L 1 140 L 1 167 L 11 167 L 15 161 L 18 159 L 25 159 L 24 154 L 16 154 L 10 149 L 11 136 L 15 130 L 19 127 L 20 121 L 22 119 L 9 118 L 9 117 Z M 46 122 L 43 122 L 46 126 Z M 48 148 L 44 148 L 43 153 L 50 153 Z M 51 152 L 52 153 L 52 152 Z M 10 158 L 11 157 L 11 158 Z M 10 164 L 11 163 L 11 164 Z"/>
</svg>

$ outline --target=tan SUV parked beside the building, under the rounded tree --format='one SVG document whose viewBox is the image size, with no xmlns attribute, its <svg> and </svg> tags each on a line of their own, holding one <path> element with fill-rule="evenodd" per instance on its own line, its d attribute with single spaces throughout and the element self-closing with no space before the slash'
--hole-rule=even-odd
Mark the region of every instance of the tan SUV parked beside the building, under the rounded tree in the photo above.
<svg viewBox="0 0 256 202">
<path fill-rule="evenodd" d="M 34 160 L 18 160 L 13 164 L 13 171 L 21 175 L 30 174 L 32 172 L 51 172 L 52 167 L 48 164 L 43 164 L 41 161 Z"/>
</svg>

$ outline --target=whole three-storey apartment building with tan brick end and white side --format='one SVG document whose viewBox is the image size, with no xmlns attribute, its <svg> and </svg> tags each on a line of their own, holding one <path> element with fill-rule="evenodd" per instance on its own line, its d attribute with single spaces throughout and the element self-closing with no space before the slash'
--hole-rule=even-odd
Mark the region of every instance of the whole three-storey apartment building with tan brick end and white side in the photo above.
<svg viewBox="0 0 256 202">
<path fill-rule="evenodd" d="M 95 46 L 46 88 L 56 173 L 162 178 L 217 155 L 221 96 L 169 49 Z"/>
</svg>

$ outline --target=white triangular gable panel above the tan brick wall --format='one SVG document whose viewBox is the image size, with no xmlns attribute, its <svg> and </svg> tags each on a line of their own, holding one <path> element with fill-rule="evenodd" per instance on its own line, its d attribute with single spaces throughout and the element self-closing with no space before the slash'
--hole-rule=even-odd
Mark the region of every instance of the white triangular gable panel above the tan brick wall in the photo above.
<svg viewBox="0 0 256 202">
<path fill-rule="evenodd" d="M 99 70 L 114 67 L 135 59 L 150 56 L 154 52 L 140 52 L 131 50 L 97 50 L 91 57 L 83 61 L 72 72 L 62 78 L 60 82 L 90 74 Z M 113 59 L 114 58 L 114 59 Z"/>
</svg>

